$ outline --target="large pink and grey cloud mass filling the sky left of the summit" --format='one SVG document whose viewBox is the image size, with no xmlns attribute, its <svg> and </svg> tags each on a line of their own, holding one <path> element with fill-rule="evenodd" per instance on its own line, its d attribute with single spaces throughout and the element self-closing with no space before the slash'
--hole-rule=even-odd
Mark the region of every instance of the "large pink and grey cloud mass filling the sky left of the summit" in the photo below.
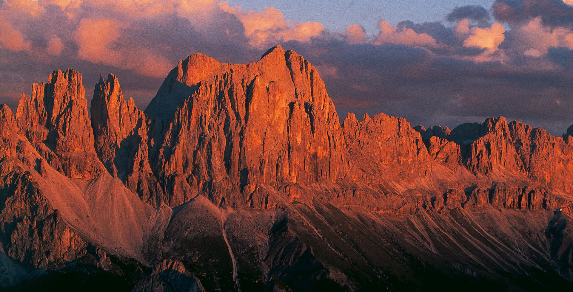
<svg viewBox="0 0 573 292">
<path fill-rule="evenodd" d="M 10 105 L 52 70 L 74 68 L 84 74 L 87 92 L 99 74 L 120 75 L 124 93 L 146 106 L 191 53 L 226 62 L 261 54 L 217 0 L 0 1 L 0 35 L 0 72 L 25 80 L 2 80 L 0 102 Z"/>
</svg>

